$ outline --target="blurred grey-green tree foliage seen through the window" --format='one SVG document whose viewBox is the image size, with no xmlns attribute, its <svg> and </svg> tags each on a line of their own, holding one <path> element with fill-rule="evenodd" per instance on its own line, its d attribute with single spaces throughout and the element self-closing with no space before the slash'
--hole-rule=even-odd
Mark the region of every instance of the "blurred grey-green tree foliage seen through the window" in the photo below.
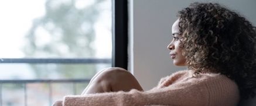
<svg viewBox="0 0 256 106">
<path fill-rule="evenodd" d="M 84 0 L 88 1 L 88 0 Z M 92 1 L 92 0 L 90 0 Z M 47 0 L 45 15 L 33 21 L 26 35 L 23 51 L 27 58 L 90 58 L 95 50 L 94 24 L 101 2 L 77 8 L 77 0 Z M 49 77 L 84 77 L 95 73 L 95 65 L 31 65 L 39 79 Z"/>
</svg>

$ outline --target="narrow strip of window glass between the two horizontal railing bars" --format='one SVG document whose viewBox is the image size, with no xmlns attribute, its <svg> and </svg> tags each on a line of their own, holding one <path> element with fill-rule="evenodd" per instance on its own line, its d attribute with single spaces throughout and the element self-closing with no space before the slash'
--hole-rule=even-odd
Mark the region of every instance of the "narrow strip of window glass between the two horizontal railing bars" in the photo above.
<svg viewBox="0 0 256 106">
<path fill-rule="evenodd" d="M 111 63 L 0 63 L 0 80 L 90 79 Z"/>
</svg>

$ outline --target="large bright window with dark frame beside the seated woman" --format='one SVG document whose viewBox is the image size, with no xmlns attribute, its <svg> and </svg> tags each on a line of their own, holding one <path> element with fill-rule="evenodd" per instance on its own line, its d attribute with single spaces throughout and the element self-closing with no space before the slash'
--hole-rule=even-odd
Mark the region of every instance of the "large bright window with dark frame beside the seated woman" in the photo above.
<svg viewBox="0 0 256 106">
<path fill-rule="evenodd" d="M 127 68 L 125 1 L 8 0 L 0 13 L 0 105 L 51 105 Z"/>
</svg>

